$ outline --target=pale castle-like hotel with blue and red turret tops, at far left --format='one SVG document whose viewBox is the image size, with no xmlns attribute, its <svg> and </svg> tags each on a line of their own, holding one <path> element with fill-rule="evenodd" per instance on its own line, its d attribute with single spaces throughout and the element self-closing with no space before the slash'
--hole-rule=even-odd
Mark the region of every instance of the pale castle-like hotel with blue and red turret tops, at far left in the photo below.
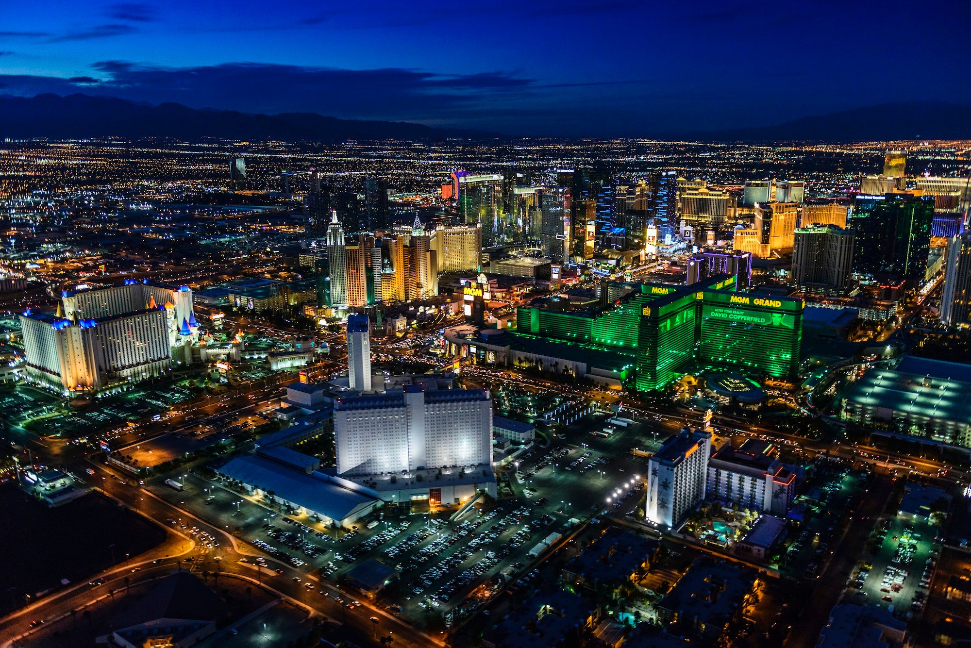
<svg viewBox="0 0 971 648">
<path fill-rule="evenodd" d="M 64 292 L 57 314 L 20 316 L 28 379 L 64 395 L 97 391 L 169 371 L 173 351 L 198 337 L 188 286 L 126 280 Z M 181 362 L 191 354 L 181 352 Z"/>
</svg>

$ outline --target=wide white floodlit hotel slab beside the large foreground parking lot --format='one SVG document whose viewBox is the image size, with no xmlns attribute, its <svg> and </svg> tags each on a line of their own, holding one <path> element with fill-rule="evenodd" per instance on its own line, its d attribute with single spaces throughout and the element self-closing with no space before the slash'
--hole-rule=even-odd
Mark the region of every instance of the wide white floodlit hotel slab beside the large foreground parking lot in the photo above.
<svg viewBox="0 0 971 648">
<path fill-rule="evenodd" d="M 482 389 L 424 385 L 341 398 L 334 404 L 334 436 L 343 477 L 488 469 L 492 400 Z"/>
</svg>

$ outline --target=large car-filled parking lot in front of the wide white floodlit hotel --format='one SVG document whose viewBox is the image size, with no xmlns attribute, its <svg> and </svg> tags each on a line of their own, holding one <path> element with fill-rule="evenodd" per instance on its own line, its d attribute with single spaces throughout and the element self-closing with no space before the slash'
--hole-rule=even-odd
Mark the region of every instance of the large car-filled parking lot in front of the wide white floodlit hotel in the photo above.
<svg viewBox="0 0 971 648">
<path fill-rule="evenodd" d="M 624 452 L 654 435 L 645 424 L 634 423 L 609 438 L 591 436 L 606 418 L 585 417 L 559 430 L 550 447 L 527 451 L 519 458 L 519 478 L 511 479 L 517 497 L 471 509 L 453 521 L 453 510 L 388 507 L 377 514 L 372 529 L 362 521 L 355 530 L 335 530 L 187 472 L 176 475 L 184 483 L 182 492 L 158 478 L 151 480 L 151 488 L 237 532 L 267 556 L 330 582 L 340 582 L 344 573 L 370 558 L 395 567 L 400 576 L 383 595 L 392 611 L 422 627 L 439 621 L 448 627 L 500 584 L 530 578 L 532 563 L 546 551 L 539 546 L 544 540 L 568 535 L 605 509 L 628 512 L 637 505 L 647 460 Z M 272 576 L 275 568 L 268 566 Z M 345 602 L 352 604 L 352 597 Z"/>
</svg>

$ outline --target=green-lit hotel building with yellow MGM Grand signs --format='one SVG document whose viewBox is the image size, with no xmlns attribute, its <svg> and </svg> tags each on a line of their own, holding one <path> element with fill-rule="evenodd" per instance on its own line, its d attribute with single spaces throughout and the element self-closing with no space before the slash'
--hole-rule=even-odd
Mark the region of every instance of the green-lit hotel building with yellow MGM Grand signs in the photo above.
<svg viewBox="0 0 971 648">
<path fill-rule="evenodd" d="M 642 283 L 606 311 L 519 308 L 517 335 L 630 354 L 639 391 L 664 387 L 686 365 L 796 373 L 802 300 L 735 292 L 735 277 L 689 286 Z"/>
</svg>

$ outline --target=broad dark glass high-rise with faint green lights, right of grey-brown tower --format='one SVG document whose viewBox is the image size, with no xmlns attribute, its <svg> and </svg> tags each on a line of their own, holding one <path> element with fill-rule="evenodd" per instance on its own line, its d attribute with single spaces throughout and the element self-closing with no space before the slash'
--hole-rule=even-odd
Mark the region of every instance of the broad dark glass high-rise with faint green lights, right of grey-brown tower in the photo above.
<svg viewBox="0 0 971 648">
<path fill-rule="evenodd" d="M 850 214 L 850 227 L 856 232 L 854 272 L 898 278 L 922 276 L 933 217 L 931 196 L 856 196 Z"/>
</svg>

